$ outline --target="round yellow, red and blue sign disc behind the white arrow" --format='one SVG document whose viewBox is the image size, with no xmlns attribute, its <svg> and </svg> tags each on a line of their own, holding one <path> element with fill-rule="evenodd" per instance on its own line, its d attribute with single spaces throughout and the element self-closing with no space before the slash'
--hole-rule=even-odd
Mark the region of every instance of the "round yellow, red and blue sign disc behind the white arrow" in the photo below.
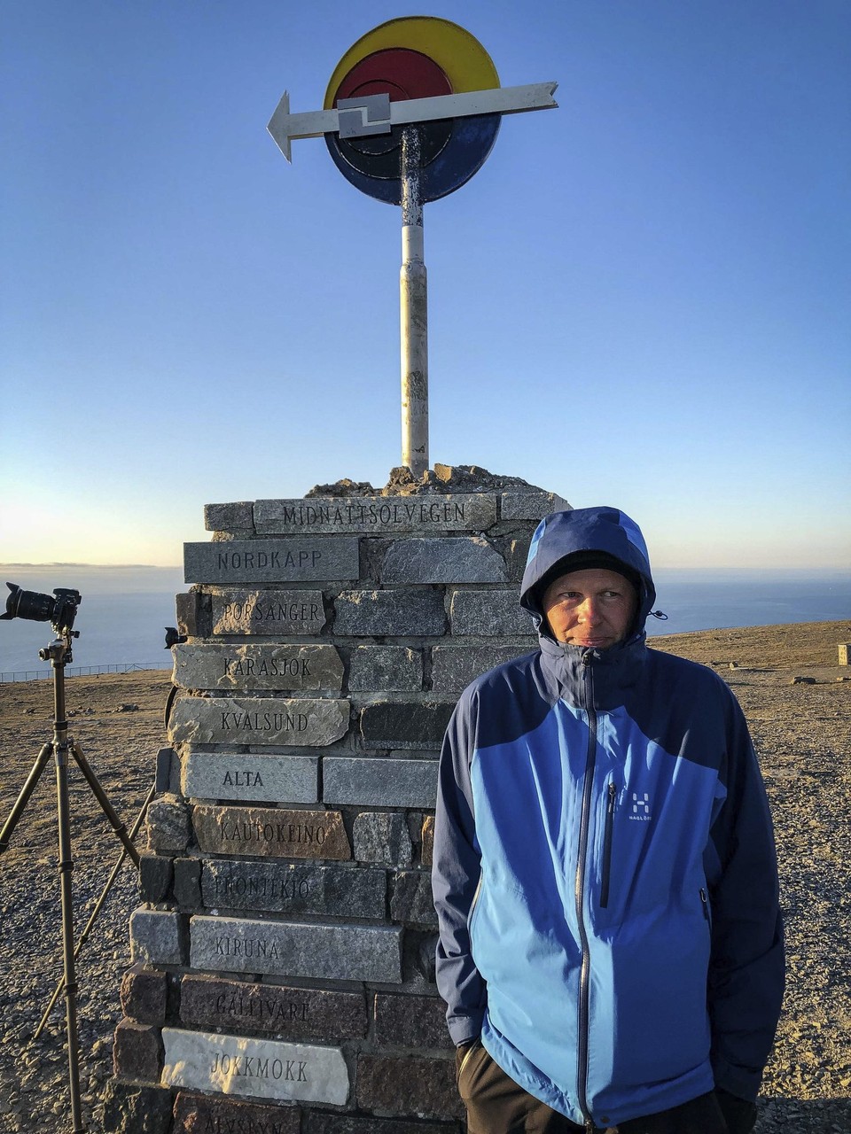
<svg viewBox="0 0 851 1134">
<path fill-rule="evenodd" d="M 326 110 L 339 99 L 387 94 L 390 102 L 486 91 L 499 86 L 494 62 L 469 32 L 447 19 L 406 16 L 368 32 L 337 64 L 326 91 Z M 437 201 L 460 188 L 490 153 L 500 115 L 475 115 L 416 124 L 421 145 L 420 195 Z M 361 192 L 399 204 L 402 127 L 389 134 L 340 138 L 326 145 L 343 176 Z"/>
</svg>

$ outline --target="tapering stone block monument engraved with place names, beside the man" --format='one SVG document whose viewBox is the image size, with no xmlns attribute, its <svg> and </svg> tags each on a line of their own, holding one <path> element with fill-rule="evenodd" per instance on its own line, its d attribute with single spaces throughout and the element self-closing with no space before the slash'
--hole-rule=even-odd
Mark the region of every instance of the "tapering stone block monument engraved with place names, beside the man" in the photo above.
<svg viewBox="0 0 851 1134">
<path fill-rule="evenodd" d="M 536 648 L 519 583 L 563 507 L 440 465 L 208 506 L 106 1131 L 461 1129 L 433 983 L 437 758 L 464 686 Z"/>
</svg>

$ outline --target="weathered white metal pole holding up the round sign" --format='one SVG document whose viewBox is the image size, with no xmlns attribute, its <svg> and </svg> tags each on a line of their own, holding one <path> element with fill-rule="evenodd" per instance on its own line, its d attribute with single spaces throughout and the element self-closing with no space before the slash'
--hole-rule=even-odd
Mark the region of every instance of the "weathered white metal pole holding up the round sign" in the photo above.
<svg viewBox="0 0 851 1134">
<path fill-rule="evenodd" d="M 420 132 L 402 132 L 402 464 L 414 476 L 429 467 L 428 288 L 420 195 Z"/>
</svg>

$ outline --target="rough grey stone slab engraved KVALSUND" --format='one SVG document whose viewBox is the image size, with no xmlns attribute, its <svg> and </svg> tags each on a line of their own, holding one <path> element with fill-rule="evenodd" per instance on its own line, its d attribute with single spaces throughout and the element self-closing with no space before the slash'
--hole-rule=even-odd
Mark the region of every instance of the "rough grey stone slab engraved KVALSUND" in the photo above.
<svg viewBox="0 0 851 1134">
<path fill-rule="evenodd" d="M 345 736 L 348 701 L 301 697 L 180 697 L 169 736 L 189 744 L 286 744 L 321 747 Z"/>
</svg>

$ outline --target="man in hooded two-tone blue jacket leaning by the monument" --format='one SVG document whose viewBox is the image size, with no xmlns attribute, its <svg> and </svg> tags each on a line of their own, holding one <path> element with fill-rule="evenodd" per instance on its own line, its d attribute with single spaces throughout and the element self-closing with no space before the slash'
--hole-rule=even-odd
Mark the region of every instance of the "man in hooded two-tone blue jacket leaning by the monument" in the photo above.
<svg viewBox="0 0 851 1134">
<path fill-rule="evenodd" d="M 540 649 L 462 695 L 440 760 L 437 983 L 470 1134 L 747 1134 L 783 995 L 777 865 L 739 704 L 648 650 L 644 541 L 555 513 Z"/>
</svg>

